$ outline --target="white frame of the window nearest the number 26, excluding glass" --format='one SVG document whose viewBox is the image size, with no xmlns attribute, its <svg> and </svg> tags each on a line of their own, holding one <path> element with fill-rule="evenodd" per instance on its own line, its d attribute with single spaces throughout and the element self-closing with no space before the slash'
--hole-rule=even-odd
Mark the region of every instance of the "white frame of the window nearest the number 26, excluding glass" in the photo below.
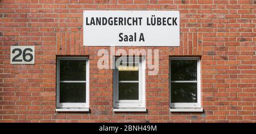
<svg viewBox="0 0 256 134">
<path fill-rule="evenodd" d="M 86 61 L 86 81 L 60 81 L 60 60 L 85 60 Z M 57 57 L 57 94 L 56 111 L 89 111 L 89 59 L 87 57 Z M 60 103 L 60 83 L 86 83 L 85 103 Z M 66 110 L 63 110 L 66 109 Z M 78 110 L 80 109 L 80 110 Z M 86 109 L 86 110 L 81 110 Z"/>
</svg>

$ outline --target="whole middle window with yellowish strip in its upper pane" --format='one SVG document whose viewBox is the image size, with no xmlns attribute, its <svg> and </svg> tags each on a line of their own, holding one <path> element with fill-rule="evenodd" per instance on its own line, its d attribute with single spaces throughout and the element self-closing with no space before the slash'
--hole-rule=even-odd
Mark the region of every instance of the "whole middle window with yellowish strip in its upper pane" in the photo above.
<svg viewBox="0 0 256 134">
<path fill-rule="evenodd" d="M 146 111 L 145 65 L 139 57 L 116 60 L 114 76 L 114 111 Z"/>
</svg>

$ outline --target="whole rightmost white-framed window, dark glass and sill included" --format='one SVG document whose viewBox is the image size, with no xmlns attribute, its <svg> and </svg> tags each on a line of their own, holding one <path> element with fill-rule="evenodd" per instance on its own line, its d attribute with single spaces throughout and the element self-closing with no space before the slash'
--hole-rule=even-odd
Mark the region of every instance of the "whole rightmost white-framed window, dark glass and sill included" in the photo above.
<svg viewBox="0 0 256 134">
<path fill-rule="evenodd" d="M 171 109 L 201 107 L 200 58 L 170 59 L 170 106 Z"/>
</svg>

